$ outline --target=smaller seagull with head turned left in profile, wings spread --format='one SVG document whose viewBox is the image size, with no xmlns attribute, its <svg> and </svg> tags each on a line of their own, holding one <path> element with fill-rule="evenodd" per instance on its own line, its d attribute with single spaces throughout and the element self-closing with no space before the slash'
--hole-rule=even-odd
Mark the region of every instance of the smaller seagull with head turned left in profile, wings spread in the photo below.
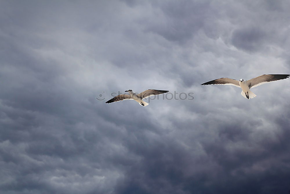
<svg viewBox="0 0 290 194">
<path fill-rule="evenodd" d="M 139 94 L 133 92 L 132 90 L 126 90 L 125 92 L 129 92 L 130 95 L 129 94 L 120 94 L 118 96 L 113 97 L 112 99 L 108 100 L 105 103 L 119 102 L 119 101 L 123 101 L 123 100 L 135 100 L 135 101 L 139 102 L 140 105 L 147 106 L 148 103 L 143 101 L 144 98 L 148 98 L 150 96 L 167 93 L 169 91 L 168 90 L 149 89 L 149 90 L 145 90 L 144 92 L 141 92 Z"/>
</svg>

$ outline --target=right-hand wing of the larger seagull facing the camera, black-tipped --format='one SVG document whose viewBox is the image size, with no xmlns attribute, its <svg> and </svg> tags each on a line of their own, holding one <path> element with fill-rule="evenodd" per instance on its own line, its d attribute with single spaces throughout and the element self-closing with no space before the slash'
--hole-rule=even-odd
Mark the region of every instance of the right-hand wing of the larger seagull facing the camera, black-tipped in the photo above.
<svg viewBox="0 0 290 194">
<path fill-rule="evenodd" d="M 269 74 L 269 75 L 260 75 L 258 77 L 255 77 L 253 79 L 247 80 L 247 83 L 249 85 L 249 88 L 255 88 L 257 86 L 260 86 L 264 83 L 268 83 L 271 81 L 277 81 L 280 79 L 286 79 L 290 75 L 289 74 Z"/>
</svg>

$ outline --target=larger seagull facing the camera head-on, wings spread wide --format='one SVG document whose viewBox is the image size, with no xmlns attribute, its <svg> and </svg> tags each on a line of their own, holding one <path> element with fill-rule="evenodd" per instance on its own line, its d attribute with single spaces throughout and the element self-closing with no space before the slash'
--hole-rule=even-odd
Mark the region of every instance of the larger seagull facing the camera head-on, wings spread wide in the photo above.
<svg viewBox="0 0 290 194">
<path fill-rule="evenodd" d="M 250 99 L 250 98 L 256 97 L 256 95 L 250 91 L 251 88 L 255 88 L 257 86 L 260 86 L 264 83 L 268 83 L 271 81 L 286 79 L 289 76 L 290 76 L 289 74 L 269 74 L 269 75 L 264 74 L 264 75 L 260 75 L 258 77 L 255 77 L 249 80 L 240 79 L 240 81 L 226 77 L 226 78 L 215 79 L 213 81 L 202 83 L 201 85 L 223 84 L 223 85 L 236 86 L 236 87 L 242 88 L 241 95 L 243 97 Z"/>
</svg>

